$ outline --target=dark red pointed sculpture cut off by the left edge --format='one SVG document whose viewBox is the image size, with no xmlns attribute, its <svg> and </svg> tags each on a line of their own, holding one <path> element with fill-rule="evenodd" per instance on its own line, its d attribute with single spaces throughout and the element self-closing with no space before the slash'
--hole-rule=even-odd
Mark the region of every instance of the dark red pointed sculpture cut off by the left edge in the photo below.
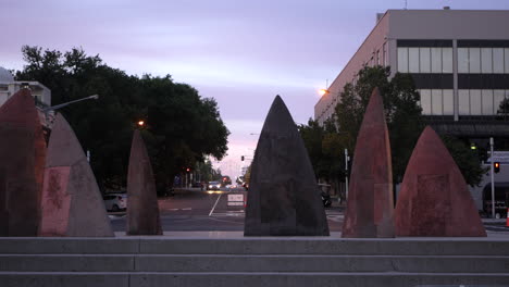
<svg viewBox="0 0 509 287">
<path fill-rule="evenodd" d="M 0 236 L 37 236 L 46 141 L 29 89 L 0 107 Z"/>
</svg>

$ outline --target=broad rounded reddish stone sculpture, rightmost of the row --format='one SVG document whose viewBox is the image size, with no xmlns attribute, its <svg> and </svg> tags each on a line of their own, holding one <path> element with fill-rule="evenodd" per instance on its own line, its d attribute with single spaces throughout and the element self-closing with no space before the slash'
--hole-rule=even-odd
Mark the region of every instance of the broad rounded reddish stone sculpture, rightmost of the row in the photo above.
<svg viewBox="0 0 509 287">
<path fill-rule="evenodd" d="M 429 126 L 408 162 L 395 219 L 397 236 L 486 236 L 458 165 Z"/>
</svg>

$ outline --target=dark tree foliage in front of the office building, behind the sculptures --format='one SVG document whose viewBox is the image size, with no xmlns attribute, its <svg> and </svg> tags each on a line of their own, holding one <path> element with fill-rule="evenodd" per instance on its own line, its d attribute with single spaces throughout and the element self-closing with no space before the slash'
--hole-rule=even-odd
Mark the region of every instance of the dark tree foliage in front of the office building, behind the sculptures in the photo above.
<svg viewBox="0 0 509 287">
<path fill-rule="evenodd" d="M 364 66 L 356 80 L 345 85 L 333 116 L 323 126 L 310 120 L 299 127 L 316 177 L 339 180 L 345 174 L 344 149 L 350 154 L 356 147 L 365 108 L 371 93 L 378 87 L 389 130 L 393 182 L 401 183 L 408 161 L 424 128 L 420 95 L 409 74 L 396 73 L 389 78 L 389 67 Z M 469 152 L 465 139 L 443 137 L 463 177 L 471 186 L 479 185 L 485 172 L 476 154 Z M 353 157 L 350 155 L 352 159 Z"/>
</svg>

